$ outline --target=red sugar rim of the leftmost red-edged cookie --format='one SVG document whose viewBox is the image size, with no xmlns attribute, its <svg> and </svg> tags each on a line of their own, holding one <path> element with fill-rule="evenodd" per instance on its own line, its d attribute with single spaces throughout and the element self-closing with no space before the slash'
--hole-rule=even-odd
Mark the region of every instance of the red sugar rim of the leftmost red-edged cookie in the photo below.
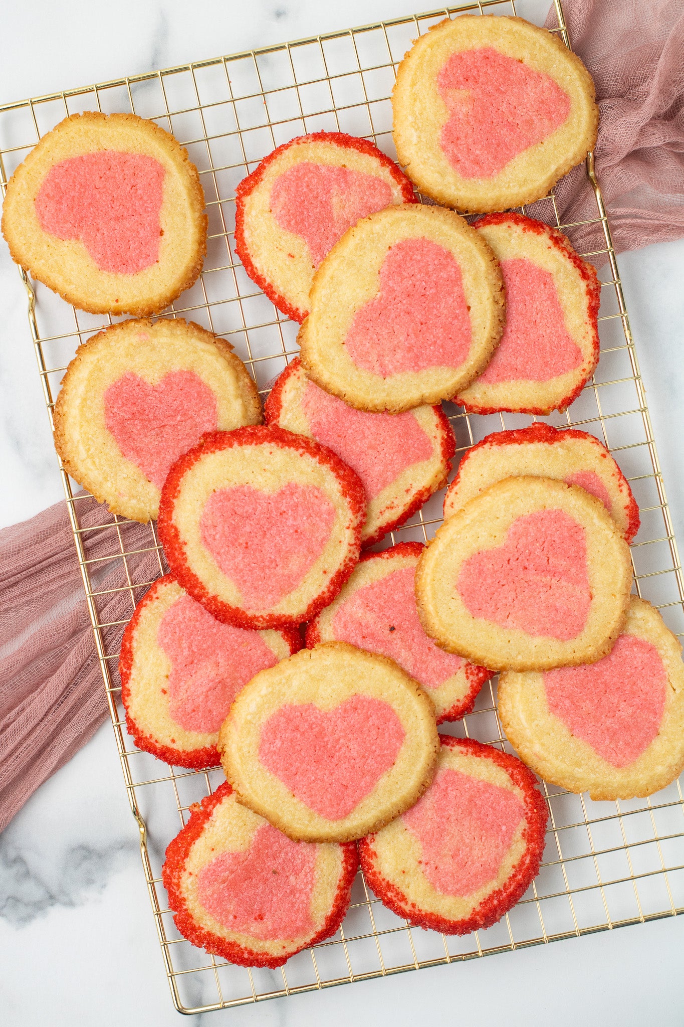
<svg viewBox="0 0 684 1027">
<path fill-rule="evenodd" d="M 174 767 L 189 767 L 191 769 L 203 769 L 204 767 L 215 767 L 220 763 L 220 756 L 215 746 L 204 746 L 202 749 L 180 749 L 176 746 L 165 746 L 157 741 L 151 734 L 148 734 L 139 726 L 133 715 L 130 713 L 130 676 L 133 671 L 133 642 L 138 621 L 143 615 L 143 610 L 152 603 L 157 593 L 164 585 L 175 582 L 172 574 L 164 574 L 158 578 L 149 592 L 146 592 L 139 601 L 133 615 L 126 624 L 121 639 L 121 653 L 119 655 L 119 675 L 121 677 L 121 701 L 126 711 L 126 727 L 128 733 L 138 749 L 146 753 L 151 753 L 157 759 L 163 760 Z M 290 655 L 301 649 L 301 636 L 296 627 L 281 627 L 278 630 L 283 641 L 289 647 Z"/>
</svg>

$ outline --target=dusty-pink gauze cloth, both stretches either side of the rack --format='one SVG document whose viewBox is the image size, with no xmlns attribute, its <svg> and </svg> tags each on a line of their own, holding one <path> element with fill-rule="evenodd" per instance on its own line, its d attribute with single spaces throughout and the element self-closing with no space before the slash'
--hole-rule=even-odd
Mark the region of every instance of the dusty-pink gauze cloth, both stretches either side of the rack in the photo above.
<svg viewBox="0 0 684 1027">
<path fill-rule="evenodd" d="M 596 82 L 601 108 L 597 172 L 615 249 L 681 237 L 681 0 L 565 0 L 564 11 L 573 48 Z M 557 26 L 553 9 L 547 24 Z M 584 165 L 559 183 L 556 196 L 564 223 L 596 217 Z M 603 249 L 600 226 L 567 231 L 580 253 Z M 593 259 L 605 262 L 605 257 Z M 79 516 L 83 527 L 112 520 L 94 500 L 80 500 Z M 150 529 L 144 525 L 126 524 L 120 530 L 128 550 L 150 543 Z M 112 553 L 115 533 L 114 528 L 91 537 L 86 533 L 88 557 Z M 130 557 L 128 563 L 136 581 L 159 574 L 155 554 Z M 98 601 L 100 621 L 125 620 L 131 604 L 121 562 L 102 566 L 97 587 L 124 591 Z M 106 630 L 108 653 L 118 651 L 122 630 Z M 80 571 L 61 503 L 0 532 L 0 830 L 88 740 L 106 713 Z"/>
</svg>

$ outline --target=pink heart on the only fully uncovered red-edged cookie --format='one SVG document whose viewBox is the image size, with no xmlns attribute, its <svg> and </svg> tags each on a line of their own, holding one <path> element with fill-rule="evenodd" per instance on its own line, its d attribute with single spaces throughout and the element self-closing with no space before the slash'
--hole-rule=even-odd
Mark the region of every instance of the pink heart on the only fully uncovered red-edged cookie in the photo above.
<svg viewBox="0 0 684 1027">
<path fill-rule="evenodd" d="M 202 510 L 202 541 L 240 591 L 245 609 L 275 606 L 293 592 L 330 538 L 335 510 L 322 489 L 289 484 L 218 489 Z"/>
</svg>

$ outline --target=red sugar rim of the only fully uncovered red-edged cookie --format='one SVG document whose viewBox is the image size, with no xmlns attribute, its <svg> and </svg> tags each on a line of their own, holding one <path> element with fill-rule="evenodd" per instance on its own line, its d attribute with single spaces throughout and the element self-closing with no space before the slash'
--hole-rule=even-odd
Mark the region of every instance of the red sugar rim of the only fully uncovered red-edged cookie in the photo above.
<svg viewBox="0 0 684 1027">
<path fill-rule="evenodd" d="M 185 544 L 180 533 L 173 523 L 173 508 L 183 488 L 183 480 L 191 467 L 209 453 L 231 449 L 234 446 L 277 446 L 290 449 L 300 456 L 311 457 L 320 464 L 325 464 L 339 483 L 339 491 L 349 505 L 350 518 L 353 522 L 354 540 L 350 545 L 341 565 L 328 581 L 327 587 L 319 593 L 301 612 L 299 616 L 286 616 L 277 613 L 247 613 L 238 606 L 231 606 L 218 596 L 210 593 L 188 565 Z M 297 435 L 285 431 L 276 425 L 252 424 L 234 431 L 207 431 L 202 435 L 197 446 L 176 460 L 168 472 L 159 500 L 159 519 L 157 526 L 159 537 L 164 547 L 166 560 L 173 577 L 186 592 L 198 603 L 213 614 L 217 620 L 223 620 L 236 627 L 292 627 L 306 620 L 311 620 L 319 610 L 327 606 L 335 598 L 345 581 L 356 567 L 361 551 L 361 529 L 366 520 L 366 492 L 358 474 L 352 470 L 339 457 L 326 446 L 306 435 Z"/>
</svg>

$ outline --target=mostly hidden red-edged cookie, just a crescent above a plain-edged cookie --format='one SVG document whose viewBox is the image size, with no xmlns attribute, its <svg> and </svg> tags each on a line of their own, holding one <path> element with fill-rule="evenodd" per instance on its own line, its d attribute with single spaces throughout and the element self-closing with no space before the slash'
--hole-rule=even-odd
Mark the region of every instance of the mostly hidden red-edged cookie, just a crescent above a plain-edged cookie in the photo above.
<svg viewBox="0 0 684 1027">
<path fill-rule="evenodd" d="M 588 431 L 559 430 L 541 422 L 493 431 L 467 450 L 444 497 L 444 520 L 494 482 L 521 474 L 578 485 L 601 500 L 628 542 L 639 531 L 637 501 L 605 446 Z"/>
</svg>

